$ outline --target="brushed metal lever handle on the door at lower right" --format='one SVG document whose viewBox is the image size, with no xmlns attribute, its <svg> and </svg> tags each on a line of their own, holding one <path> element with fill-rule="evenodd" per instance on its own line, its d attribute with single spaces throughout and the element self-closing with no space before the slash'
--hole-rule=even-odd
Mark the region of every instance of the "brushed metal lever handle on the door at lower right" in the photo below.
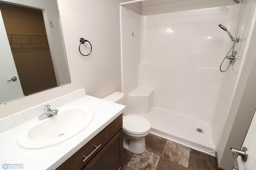
<svg viewBox="0 0 256 170">
<path fill-rule="evenodd" d="M 230 148 L 230 151 L 232 155 L 233 168 L 239 170 L 237 156 L 241 156 L 242 161 L 246 162 L 248 158 L 248 149 L 246 147 L 243 147 L 242 150 Z"/>
</svg>

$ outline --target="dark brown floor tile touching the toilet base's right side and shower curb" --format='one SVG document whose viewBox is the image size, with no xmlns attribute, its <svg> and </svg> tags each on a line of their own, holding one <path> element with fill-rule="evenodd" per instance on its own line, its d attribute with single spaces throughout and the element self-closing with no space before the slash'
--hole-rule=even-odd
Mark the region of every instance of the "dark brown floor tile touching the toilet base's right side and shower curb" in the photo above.
<svg viewBox="0 0 256 170">
<path fill-rule="evenodd" d="M 154 134 L 148 134 L 145 140 L 146 140 L 146 149 L 148 151 L 154 154 L 157 154 L 159 156 L 162 155 L 167 139 L 161 138 Z"/>
</svg>

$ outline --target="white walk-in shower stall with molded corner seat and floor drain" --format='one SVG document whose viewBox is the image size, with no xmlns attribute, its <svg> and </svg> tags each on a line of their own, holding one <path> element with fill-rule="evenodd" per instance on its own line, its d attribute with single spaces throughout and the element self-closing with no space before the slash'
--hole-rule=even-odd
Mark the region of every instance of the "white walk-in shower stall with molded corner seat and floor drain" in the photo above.
<svg viewBox="0 0 256 170">
<path fill-rule="evenodd" d="M 236 62 L 224 73 L 220 63 L 233 42 L 219 24 L 236 35 L 241 3 L 133 2 L 120 5 L 124 115 L 145 117 L 153 134 L 214 155 L 254 26 L 255 0 L 244 0 Z"/>
</svg>

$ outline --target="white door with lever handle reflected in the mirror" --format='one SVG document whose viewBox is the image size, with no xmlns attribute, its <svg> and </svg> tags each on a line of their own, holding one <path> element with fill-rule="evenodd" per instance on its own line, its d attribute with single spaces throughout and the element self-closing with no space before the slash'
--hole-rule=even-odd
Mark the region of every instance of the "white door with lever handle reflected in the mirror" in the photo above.
<svg viewBox="0 0 256 170">
<path fill-rule="evenodd" d="M 0 103 L 24 96 L 0 11 Z M 4 29 L 2 29 L 4 28 Z M 12 77 L 16 77 L 12 81 Z M 9 81 L 11 80 L 11 81 Z"/>
</svg>

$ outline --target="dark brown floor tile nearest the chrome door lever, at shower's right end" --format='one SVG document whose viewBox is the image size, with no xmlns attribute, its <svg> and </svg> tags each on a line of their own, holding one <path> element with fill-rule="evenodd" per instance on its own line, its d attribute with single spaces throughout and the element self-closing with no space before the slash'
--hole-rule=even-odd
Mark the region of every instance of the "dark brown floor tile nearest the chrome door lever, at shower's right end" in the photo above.
<svg viewBox="0 0 256 170">
<path fill-rule="evenodd" d="M 214 156 L 190 149 L 189 170 L 216 170 Z"/>
</svg>

